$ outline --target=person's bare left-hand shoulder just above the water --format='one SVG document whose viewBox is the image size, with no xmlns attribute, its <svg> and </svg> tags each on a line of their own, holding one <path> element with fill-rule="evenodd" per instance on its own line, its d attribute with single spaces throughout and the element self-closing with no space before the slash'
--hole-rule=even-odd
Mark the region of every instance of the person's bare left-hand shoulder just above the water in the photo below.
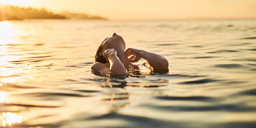
<svg viewBox="0 0 256 128">
<path fill-rule="evenodd" d="M 109 63 L 102 64 L 100 62 L 94 62 L 91 69 L 94 70 L 94 71 L 99 71 L 103 74 L 110 73 Z"/>
</svg>

